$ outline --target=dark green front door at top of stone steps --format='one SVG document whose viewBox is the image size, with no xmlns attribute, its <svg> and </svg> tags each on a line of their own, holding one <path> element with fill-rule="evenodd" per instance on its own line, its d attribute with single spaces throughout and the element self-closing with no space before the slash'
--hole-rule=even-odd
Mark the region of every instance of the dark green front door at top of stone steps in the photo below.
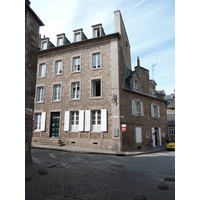
<svg viewBox="0 0 200 200">
<path fill-rule="evenodd" d="M 59 137 L 60 112 L 51 113 L 50 137 Z"/>
</svg>

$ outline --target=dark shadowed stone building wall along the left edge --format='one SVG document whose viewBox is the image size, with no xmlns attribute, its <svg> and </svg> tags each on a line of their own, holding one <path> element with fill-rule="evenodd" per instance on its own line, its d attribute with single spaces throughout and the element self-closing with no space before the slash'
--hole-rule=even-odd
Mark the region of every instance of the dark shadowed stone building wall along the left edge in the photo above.
<svg viewBox="0 0 200 200">
<path fill-rule="evenodd" d="M 34 97 L 37 72 L 39 27 L 44 24 L 25 1 L 25 162 L 31 161 Z"/>
</svg>

